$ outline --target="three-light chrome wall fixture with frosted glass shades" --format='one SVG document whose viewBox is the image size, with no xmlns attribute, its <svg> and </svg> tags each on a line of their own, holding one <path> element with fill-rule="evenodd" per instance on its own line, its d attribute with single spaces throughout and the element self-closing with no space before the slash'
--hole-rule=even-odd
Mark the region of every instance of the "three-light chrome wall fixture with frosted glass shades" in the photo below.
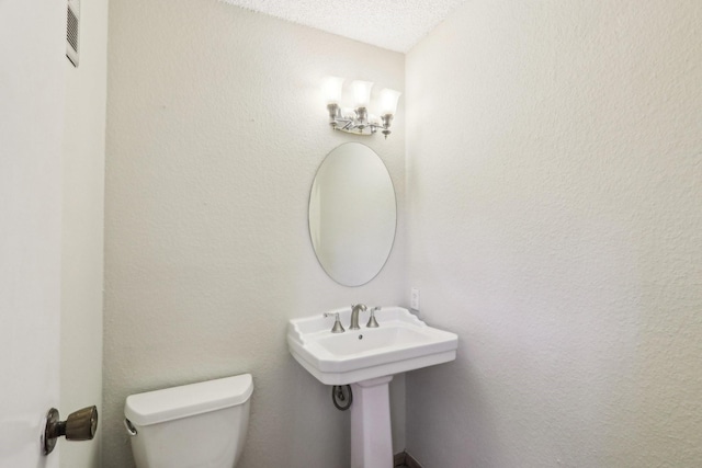
<svg viewBox="0 0 702 468">
<path fill-rule="evenodd" d="M 373 83 L 356 80 L 351 82 L 351 88 L 353 90 L 353 107 L 341 107 L 343 78 L 328 77 L 325 80 L 322 92 L 327 100 L 331 128 L 356 135 L 373 135 L 380 129 L 387 138 L 401 93 L 387 88 L 381 91 L 380 117 L 377 117 L 369 113 Z"/>
</svg>

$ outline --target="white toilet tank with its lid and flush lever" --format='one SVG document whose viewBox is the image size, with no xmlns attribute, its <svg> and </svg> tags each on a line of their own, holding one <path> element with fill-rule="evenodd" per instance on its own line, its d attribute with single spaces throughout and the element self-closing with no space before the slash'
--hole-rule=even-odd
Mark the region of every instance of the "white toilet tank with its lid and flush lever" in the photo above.
<svg viewBox="0 0 702 468">
<path fill-rule="evenodd" d="M 131 395 L 124 424 L 137 468 L 234 468 L 252 392 L 242 374 Z"/>
</svg>

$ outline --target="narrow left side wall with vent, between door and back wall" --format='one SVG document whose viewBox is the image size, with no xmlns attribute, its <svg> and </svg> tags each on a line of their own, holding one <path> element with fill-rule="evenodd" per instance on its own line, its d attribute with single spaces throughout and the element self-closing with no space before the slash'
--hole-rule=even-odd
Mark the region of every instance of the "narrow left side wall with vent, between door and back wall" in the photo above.
<svg viewBox="0 0 702 468">
<path fill-rule="evenodd" d="M 80 66 L 65 59 L 63 148 L 61 372 L 65 418 L 91 404 L 102 418 L 102 285 L 104 230 L 107 0 L 83 0 Z M 100 466 L 100 438 L 61 443 L 60 466 Z"/>
</svg>

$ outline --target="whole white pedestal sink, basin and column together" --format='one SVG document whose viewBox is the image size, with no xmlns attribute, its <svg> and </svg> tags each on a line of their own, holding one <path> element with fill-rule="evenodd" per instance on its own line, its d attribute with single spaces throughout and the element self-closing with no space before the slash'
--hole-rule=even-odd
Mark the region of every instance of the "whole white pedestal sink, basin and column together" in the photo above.
<svg viewBox="0 0 702 468">
<path fill-rule="evenodd" d="M 335 312 L 347 327 L 351 309 Z M 378 328 L 343 333 L 332 333 L 333 318 L 322 313 L 287 327 L 295 361 L 322 384 L 351 385 L 351 468 L 393 466 L 388 384 L 395 374 L 455 359 L 458 345 L 456 334 L 427 326 L 405 308 L 383 308 L 375 317 Z"/>
</svg>

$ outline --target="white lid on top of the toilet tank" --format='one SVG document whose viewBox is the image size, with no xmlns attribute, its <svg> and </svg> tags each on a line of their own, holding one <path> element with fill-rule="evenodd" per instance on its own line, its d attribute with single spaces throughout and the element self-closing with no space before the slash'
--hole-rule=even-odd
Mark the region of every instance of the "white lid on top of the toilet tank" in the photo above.
<svg viewBox="0 0 702 468">
<path fill-rule="evenodd" d="M 135 425 L 157 424 L 241 404 L 252 392 L 251 375 L 242 374 L 131 395 L 124 415 Z"/>
</svg>

